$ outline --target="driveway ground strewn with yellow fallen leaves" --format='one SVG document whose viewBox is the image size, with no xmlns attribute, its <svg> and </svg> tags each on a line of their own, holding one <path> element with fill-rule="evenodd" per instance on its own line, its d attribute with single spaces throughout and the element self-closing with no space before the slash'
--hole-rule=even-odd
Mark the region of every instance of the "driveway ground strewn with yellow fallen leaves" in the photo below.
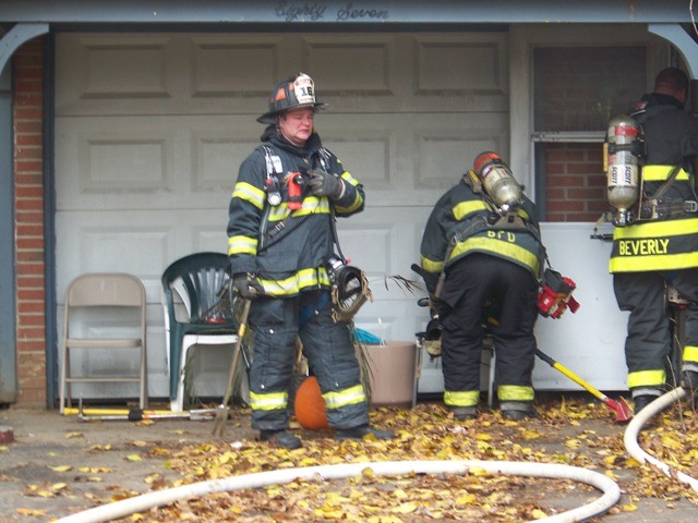
<svg viewBox="0 0 698 523">
<path fill-rule="evenodd" d="M 332 433 L 293 424 L 303 448 L 287 451 L 255 439 L 249 409 L 233 409 L 222 439 L 210 422 L 77 423 L 56 413 L 13 414 L 15 442 L 0 446 L 0 521 L 50 522 L 89 507 L 140 494 L 314 465 L 385 461 L 483 460 L 558 463 L 600 472 L 622 489 L 609 515 L 593 521 L 696 521 L 698 495 L 661 471 L 640 465 L 623 446 L 626 426 L 589 394 L 538 400 L 540 417 L 507 422 L 483 408 L 458 422 L 441 402 L 414 409 L 381 408 L 372 423 L 397 434 L 392 441 L 338 442 Z M 686 403 L 662 413 L 640 435 L 641 447 L 677 471 L 698 477 L 697 416 Z M 209 495 L 136 513 L 121 521 L 520 522 L 597 500 L 592 487 L 561 479 L 467 474 L 296 481 Z"/>
</svg>

